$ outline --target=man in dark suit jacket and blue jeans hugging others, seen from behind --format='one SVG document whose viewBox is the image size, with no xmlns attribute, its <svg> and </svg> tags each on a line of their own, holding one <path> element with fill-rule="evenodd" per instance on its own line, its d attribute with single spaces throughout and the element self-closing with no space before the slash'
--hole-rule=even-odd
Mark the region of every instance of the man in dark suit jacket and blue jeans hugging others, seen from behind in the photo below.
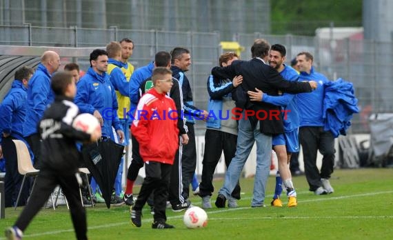
<svg viewBox="0 0 393 240">
<path fill-rule="evenodd" d="M 279 90 L 299 93 L 311 92 L 316 88 L 314 81 L 303 83 L 283 79 L 279 72 L 266 64 L 269 50 L 270 44 L 267 41 L 256 39 L 251 48 L 253 59 L 234 61 L 230 66 L 212 69 L 212 75 L 221 79 L 243 76 L 243 83 L 236 88 L 233 94 L 236 107 L 242 109 L 241 114 L 236 115 L 239 119 L 236 154 L 225 174 L 224 185 L 219 190 L 219 196 L 216 199 L 217 208 L 225 208 L 225 201 L 230 197 L 239 180 L 254 141 L 256 141 L 256 173 L 251 206 L 262 207 L 264 203 L 265 184 L 270 172 L 272 134 L 283 133 L 283 121 L 279 107 L 255 101 L 260 99 L 260 92 L 254 92 L 256 88 L 272 96 L 278 95 Z"/>
</svg>

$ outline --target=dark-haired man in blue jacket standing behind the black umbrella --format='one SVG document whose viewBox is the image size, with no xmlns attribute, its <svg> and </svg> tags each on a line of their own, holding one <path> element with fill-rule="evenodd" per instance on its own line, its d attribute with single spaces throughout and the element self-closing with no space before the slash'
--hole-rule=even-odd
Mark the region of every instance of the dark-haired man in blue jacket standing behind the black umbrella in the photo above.
<svg viewBox="0 0 393 240">
<path fill-rule="evenodd" d="M 88 112 L 99 119 L 102 137 L 114 141 L 112 126 L 116 130 L 119 142 L 123 142 L 124 132 L 117 117 L 117 99 L 114 87 L 110 83 L 108 70 L 108 53 L 102 49 L 90 54 L 90 68 L 77 84 L 74 102 L 81 113 Z M 92 181 L 93 192 L 96 191 Z M 122 202 L 123 203 L 123 202 Z"/>
</svg>

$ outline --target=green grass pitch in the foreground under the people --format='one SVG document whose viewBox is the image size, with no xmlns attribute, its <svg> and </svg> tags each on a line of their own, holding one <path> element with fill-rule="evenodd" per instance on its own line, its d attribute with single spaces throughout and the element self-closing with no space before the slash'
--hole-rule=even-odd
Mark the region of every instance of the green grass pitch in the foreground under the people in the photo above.
<svg viewBox="0 0 393 240">
<path fill-rule="evenodd" d="M 335 170 L 330 182 L 333 194 L 315 196 L 308 191 L 304 176 L 294 177 L 298 194 L 296 208 L 270 206 L 274 177 L 268 180 L 266 208 L 250 208 L 254 179 L 241 179 L 239 208 L 208 212 L 208 226 L 187 229 L 184 212 L 167 210 L 168 223 L 175 229 L 153 230 L 149 208 L 143 209 L 142 227 L 130 223 L 127 206 L 106 209 L 103 204 L 87 208 L 89 239 L 393 239 L 393 169 Z M 215 190 L 222 180 L 214 181 Z M 139 192 L 139 187 L 134 189 Z M 216 192 L 212 196 L 212 205 Z M 285 193 L 282 195 L 286 204 Z M 201 206 L 199 197 L 192 204 Z M 0 228 L 12 226 L 22 208 L 6 209 Z M 24 239 L 74 239 L 66 206 L 42 209 L 30 223 Z M 4 239 L 1 237 L 0 239 Z"/>
</svg>

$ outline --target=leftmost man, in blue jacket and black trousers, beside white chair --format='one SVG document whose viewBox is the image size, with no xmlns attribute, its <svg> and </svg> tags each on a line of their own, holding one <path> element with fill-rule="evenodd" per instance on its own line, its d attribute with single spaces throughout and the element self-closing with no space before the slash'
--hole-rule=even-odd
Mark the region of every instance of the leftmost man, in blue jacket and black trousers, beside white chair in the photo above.
<svg viewBox="0 0 393 240">
<path fill-rule="evenodd" d="M 6 207 L 14 206 L 21 188 L 23 176 L 18 172 L 17 149 L 13 139 L 25 141 L 22 125 L 26 117 L 26 99 L 28 97 L 28 81 L 34 74 L 29 67 L 21 67 L 15 72 L 12 87 L 0 105 L 0 156 L 6 159 L 5 196 Z M 28 184 L 24 185 L 19 199 L 19 206 L 25 205 L 28 199 Z"/>
</svg>

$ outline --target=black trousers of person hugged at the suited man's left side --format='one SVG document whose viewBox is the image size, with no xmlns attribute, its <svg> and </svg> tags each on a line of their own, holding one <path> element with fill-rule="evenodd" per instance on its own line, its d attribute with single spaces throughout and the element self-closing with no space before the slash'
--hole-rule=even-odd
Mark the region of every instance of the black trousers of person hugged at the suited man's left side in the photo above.
<svg viewBox="0 0 393 240">
<path fill-rule="evenodd" d="M 199 183 L 199 196 L 211 196 L 214 192 L 212 184 L 213 174 L 216 170 L 217 163 L 219 163 L 221 153 L 224 152 L 225 165 L 230 165 L 232 158 L 236 152 L 237 135 L 228 132 L 221 132 L 220 130 L 207 129 L 205 132 L 205 152 L 203 153 L 202 161 L 202 179 Z M 240 199 L 239 181 L 232 191 L 232 197 Z"/>
</svg>

